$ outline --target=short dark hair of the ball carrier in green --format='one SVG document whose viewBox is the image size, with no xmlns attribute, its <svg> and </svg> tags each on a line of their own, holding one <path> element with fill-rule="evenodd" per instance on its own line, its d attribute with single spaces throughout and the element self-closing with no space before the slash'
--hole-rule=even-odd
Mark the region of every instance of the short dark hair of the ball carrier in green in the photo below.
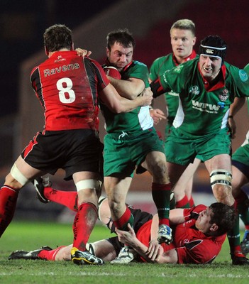
<svg viewBox="0 0 249 284">
<path fill-rule="evenodd" d="M 106 46 L 109 50 L 111 50 L 114 43 L 120 43 L 124 48 L 130 48 L 131 46 L 135 48 L 135 40 L 128 28 L 119 28 L 116 31 L 111 31 L 106 36 Z"/>
</svg>

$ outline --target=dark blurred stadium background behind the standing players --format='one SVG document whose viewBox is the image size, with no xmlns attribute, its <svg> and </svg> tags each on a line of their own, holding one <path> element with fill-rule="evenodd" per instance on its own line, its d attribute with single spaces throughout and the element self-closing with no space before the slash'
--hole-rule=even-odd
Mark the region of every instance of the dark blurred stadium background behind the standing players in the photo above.
<svg viewBox="0 0 249 284">
<path fill-rule="evenodd" d="M 106 34 L 116 28 L 129 28 L 136 40 L 134 59 L 148 67 L 155 58 L 171 52 L 170 27 L 179 18 L 190 18 L 197 26 L 197 45 L 209 34 L 218 34 L 228 43 L 226 61 L 243 68 L 248 63 L 248 0 L 1 0 L 1 104 L 0 104 L 0 182 L 18 154 L 43 129 L 43 112 L 35 98 L 29 75 L 35 65 L 46 59 L 43 32 L 54 23 L 72 28 L 74 47 L 92 50 L 91 57 L 104 62 Z M 165 108 L 162 97 L 155 107 Z M 236 115 L 238 133 L 233 150 L 243 143 L 248 130 L 246 106 Z M 162 135 L 165 123 L 156 126 Z M 101 119 L 101 138 L 104 121 Z M 74 190 L 64 182 L 63 173 L 52 178 L 55 188 Z M 248 188 L 245 187 L 248 191 Z M 201 165 L 194 176 L 193 195 L 196 203 L 214 201 L 209 175 Z M 150 195 L 150 175 L 133 180 L 128 202 L 155 212 Z M 15 219 L 48 219 L 71 221 L 72 214 L 57 204 L 41 204 L 35 191 L 27 185 L 20 193 Z"/>
</svg>

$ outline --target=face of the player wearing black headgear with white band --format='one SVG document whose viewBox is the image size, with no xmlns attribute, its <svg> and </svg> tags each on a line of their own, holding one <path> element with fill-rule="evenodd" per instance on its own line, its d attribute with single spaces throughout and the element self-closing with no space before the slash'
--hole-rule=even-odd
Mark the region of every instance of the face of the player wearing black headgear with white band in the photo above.
<svg viewBox="0 0 249 284">
<path fill-rule="evenodd" d="M 216 78 L 218 72 L 221 70 L 221 58 L 214 58 L 209 55 L 200 55 L 199 67 L 201 74 L 206 81 L 211 82 Z"/>
</svg>

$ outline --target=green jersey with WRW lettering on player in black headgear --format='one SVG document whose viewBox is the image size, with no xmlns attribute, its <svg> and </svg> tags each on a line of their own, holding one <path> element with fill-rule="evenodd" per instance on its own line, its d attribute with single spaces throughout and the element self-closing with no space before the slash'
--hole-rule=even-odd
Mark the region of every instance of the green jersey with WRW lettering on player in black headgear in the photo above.
<svg viewBox="0 0 249 284">
<path fill-rule="evenodd" d="M 204 87 L 199 58 L 160 75 L 162 90 L 159 93 L 151 84 L 155 97 L 171 90 L 179 94 L 179 107 L 173 122 L 179 132 L 192 138 L 218 132 L 227 126 L 228 111 L 234 97 L 249 96 L 249 80 L 245 70 L 227 62 L 221 70 L 223 80 L 209 90 Z"/>
</svg>

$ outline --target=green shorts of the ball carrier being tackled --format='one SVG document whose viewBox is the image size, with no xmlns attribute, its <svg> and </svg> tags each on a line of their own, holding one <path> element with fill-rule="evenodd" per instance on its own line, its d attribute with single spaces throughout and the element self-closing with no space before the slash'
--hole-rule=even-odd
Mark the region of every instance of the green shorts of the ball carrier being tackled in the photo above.
<svg viewBox="0 0 249 284">
<path fill-rule="evenodd" d="M 135 133 L 107 133 L 104 136 L 104 176 L 118 173 L 133 177 L 136 165 L 136 173 L 145 172 L 141 163 L 153 151 L 165 153 L 163 141 L 154 128 Z"/>
</svg>

